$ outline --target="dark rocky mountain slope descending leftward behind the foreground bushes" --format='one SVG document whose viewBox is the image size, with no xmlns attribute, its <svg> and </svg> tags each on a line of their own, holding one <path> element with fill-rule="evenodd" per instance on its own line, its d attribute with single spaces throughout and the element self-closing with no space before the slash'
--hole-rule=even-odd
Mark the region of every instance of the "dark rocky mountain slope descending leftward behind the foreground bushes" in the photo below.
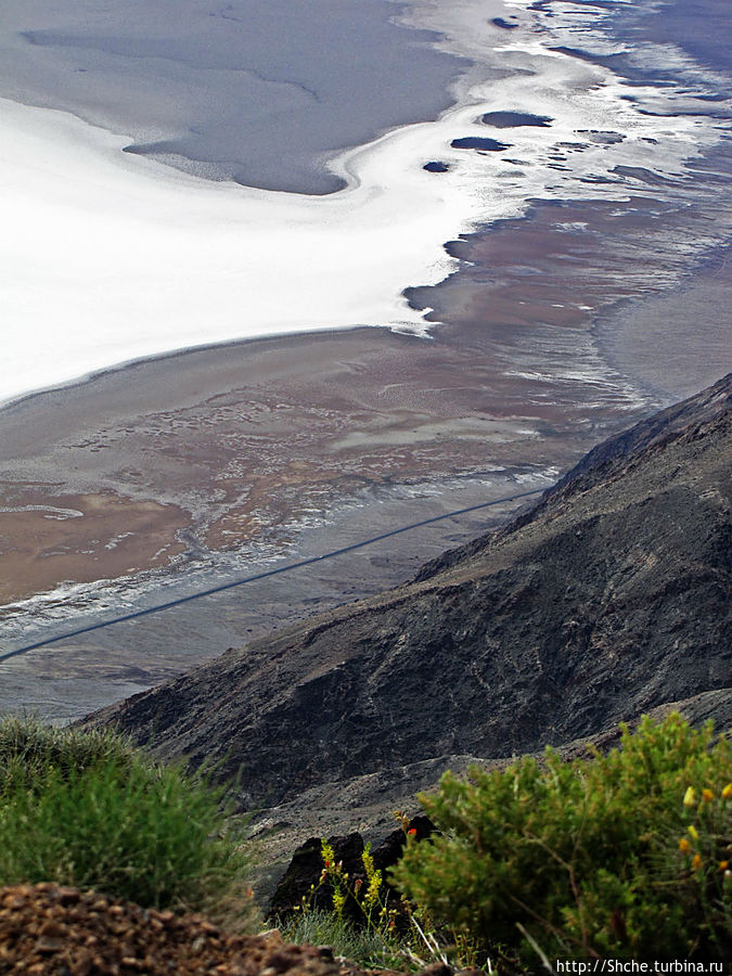
<svg viewBox="0 0 732 976">
<path fill-rule="evenodd" d="M 667 703 L 724 723 L 731 402 L 732 374 L 411 583 L 90 720 L 220 760 L 245 805 L 324 807 L 337 792 L 356 823 L 370 793 L 387 802 L 470 757 L 567 745 Z"/>
</svg>

